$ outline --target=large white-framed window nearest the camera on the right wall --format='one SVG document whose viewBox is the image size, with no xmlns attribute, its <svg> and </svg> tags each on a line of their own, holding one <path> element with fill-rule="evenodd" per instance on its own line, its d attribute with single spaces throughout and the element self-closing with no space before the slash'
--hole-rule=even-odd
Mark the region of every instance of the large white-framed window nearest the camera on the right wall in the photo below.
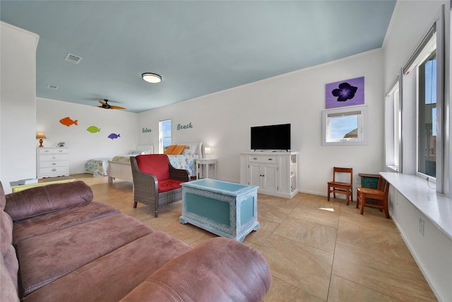
<svg viewBox="0 0 452 302">
<path fill-rule="evenodd" d="M 445 45 L 450 40 L 445 35 L 444 14 L 432 25 L 403 67 L 403 156 L 404 165 L 412 173 L 436 183 L 436 192 L 450 194 L 452 182 L 447 169 L 450 153 L 446 135 L 444 81 Z M 408 111 L 406 109 L 408 108 Z M 407 125 L 405 129 L 405 124 Z M 410 127 L 412 125 L 412 127 Z M 404 167 L 405 170 L 405 167 Z"/>
</svg>

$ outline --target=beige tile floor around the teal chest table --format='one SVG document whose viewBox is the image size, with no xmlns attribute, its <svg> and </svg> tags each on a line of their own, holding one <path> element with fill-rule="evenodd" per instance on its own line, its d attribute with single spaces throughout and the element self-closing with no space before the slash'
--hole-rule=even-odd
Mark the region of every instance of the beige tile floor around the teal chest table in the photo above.
<svg viewBox="0 0 452 302">
<path fill-rule="evenodd" d="M 195 246 L 215 235 L 179 223 L 181 202 L 133 209 L 130 182 L 83 178 L 95 200 Z M 261 228 L 244 243 L 268 261 L 273 284 L 266 301 L 436 301 L 396 226 L 377 209 L 299 193 L 293 199 L 258 194 Z"/>
</svg>

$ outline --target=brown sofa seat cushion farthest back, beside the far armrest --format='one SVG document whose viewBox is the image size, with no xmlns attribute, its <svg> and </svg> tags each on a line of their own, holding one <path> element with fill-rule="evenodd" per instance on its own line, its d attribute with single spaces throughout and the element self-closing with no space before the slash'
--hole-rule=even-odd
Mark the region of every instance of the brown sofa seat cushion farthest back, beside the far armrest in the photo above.
<svg viewBox="0 0 452 302">
<path fill-rule="evenodd" d="M 119 213 L 119 210 L 110 207 L 108 204 L 90 202 L 89 204 L 83 204 L 80 207 L 17 221 L 14 223 L 13 244 L 17 244 L 18 241 L 30 237 L 58 231 L 62 228 L 69 228 L 70 226 L 76 226 L 81 223 Z"/>
</svg>

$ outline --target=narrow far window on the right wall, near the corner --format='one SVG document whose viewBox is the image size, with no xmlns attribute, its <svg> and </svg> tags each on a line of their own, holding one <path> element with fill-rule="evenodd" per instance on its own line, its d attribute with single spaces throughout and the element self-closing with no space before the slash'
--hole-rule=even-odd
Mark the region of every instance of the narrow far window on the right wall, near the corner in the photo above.
<svg viewBox="0 0 452 302">
<path fill-rule="evenodd" d="M 398 79 L 386 93 L 385 102 L 385 154 L 386 167 L 397 172 L 402 171 L 400 165 L 401 154 L 401 112 L 400 88 Z"/>
</svg>

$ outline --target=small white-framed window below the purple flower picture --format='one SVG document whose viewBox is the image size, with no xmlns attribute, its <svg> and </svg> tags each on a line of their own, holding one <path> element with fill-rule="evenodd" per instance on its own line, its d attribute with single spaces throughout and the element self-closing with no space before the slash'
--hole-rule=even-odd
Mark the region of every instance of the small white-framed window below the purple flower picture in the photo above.
<svg viewBox="0 0 452 302">
<path fill-rule="evenodd" d="M 367 106 L 322 111 L 322 144 L 367 144 Z"/>
</svg>

